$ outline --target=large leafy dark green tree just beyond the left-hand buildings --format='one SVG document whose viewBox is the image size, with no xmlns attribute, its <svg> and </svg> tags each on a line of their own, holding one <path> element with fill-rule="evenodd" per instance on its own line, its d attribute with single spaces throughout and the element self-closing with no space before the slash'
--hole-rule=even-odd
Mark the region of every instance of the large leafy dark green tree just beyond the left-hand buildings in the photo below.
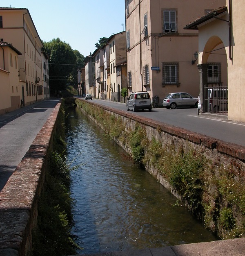
<svg viewBox="0 0 245 256">
<path fill-rule="evenodd" d="M 60 41 L 59 38 L 42 43 L 44 52 L 49 55 L 50 94 L 56 96 L 65 89 L 77 57 L 69 43 Z"/>
</svg>

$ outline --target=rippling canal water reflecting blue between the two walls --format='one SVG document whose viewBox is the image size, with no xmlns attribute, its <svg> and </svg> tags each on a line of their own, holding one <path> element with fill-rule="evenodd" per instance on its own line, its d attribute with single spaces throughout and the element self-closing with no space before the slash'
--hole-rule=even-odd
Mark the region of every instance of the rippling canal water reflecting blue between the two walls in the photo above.
<svg viewBox="0 0 245 256">
<path fill-rule="evenodd" d="M 148 172 L 89 120 L 69 109 L 68 158 L 78 254 L 217 240 Z"/>
</svg>

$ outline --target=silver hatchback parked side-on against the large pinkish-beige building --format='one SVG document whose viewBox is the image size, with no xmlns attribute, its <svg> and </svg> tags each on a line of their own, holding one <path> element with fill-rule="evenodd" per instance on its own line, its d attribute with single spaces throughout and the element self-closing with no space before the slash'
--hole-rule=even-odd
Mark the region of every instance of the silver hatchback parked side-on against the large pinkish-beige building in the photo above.
<svg viewBox="0 0 245 256">
<path fill-rule="evenodd" d="M 177 106 L 190 106 L 197 108 L 198 98 L 194 98 L 189 93 L 169 93 L 163 100 L 166 109 L 176 109 Z"/>
</svg>

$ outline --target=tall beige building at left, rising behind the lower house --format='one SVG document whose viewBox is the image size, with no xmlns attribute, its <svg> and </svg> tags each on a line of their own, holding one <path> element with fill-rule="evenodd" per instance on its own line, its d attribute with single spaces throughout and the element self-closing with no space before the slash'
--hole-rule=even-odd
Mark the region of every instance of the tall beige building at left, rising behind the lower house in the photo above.
<svg viewBox="0 0 245 256">
<path fill-rule="evenodd" d="M 14 48 L 22 52 L 17 59 L 17 77 L 21 84 L 18 93 L 23 105 L 49 98 L 49 79 L 46 72 L 48 62 L 45 54 L 41 55 L 43 45 L 28 9 L 0 7 L 0 41 L 11 43 Z M 46 63 L 46 71 L 42 70 L 43 63 Z M 10 73 L 10 77 L 14 75 Z M 47 81 L 45 81 L 45 75 Z M 25 88 L 22 94 L 23 83 Z M 0 84 L 0 86 L 3 85 Z M 16 106 L 18 103 L 13 104 Z"/>
</svg>

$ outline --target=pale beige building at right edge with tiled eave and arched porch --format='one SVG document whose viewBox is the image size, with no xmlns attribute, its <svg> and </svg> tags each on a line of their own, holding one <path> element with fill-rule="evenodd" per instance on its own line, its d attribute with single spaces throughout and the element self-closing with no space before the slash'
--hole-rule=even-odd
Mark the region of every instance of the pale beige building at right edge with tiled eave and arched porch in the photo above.
<svg viewBox="0 0 245 256">
<path fill-rule="evenodd" d="M 228 120 L 245 122 L 245 86 L 243 0 L 227 0 L 226 6 L 189 23 L 186 29 L 199 31 L 199 71 L 200 71 L 200 113 L 207 112 L 210 101 L 205 97 L 205 86 L 209 82 L 209 63 L 212 54 L 225 58 L 224 72 L 227 75 Z M 219 50 L 217 50 L 219 49 Z M 220 52 L 221 51 L 221 52 Z M 221 61 L 219 61 L 221 62 Z M 223 83 L 223 79 L 220 81 Z M 222 102 L 222 101 L 221 101 Z"/>
</svg>

